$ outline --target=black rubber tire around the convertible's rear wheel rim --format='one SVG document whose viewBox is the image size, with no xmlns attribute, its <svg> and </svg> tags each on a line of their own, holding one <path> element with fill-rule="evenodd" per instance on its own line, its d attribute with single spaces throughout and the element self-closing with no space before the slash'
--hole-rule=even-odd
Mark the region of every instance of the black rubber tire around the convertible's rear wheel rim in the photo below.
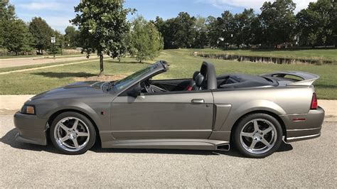
<svg viewBox="0 0 337 189">
<path fill-rule="evenodd" d="M 258 131 L 255 129 L 255 122 L 258 125 Z M 270 126 L 270 124 L 272 124 L 272 126 Z M 272 131 L 267 132 L 269 129 L 263 129 L 269 128 L 267 126 L 269 126 Z M 267 133 L 264 134 L 264 132 Z M 245 136 L 245 134 L 249 134 L 250 136 Z M 232 141 L 242 155 L 249 158 L 264 158 L 277 151 L 282 144 L 282 136 L 282 126 L 277 119 L 269 114 L 257 113 L 248 114 L 238 121 L 232 133 Z M 268 141 L 269 139 L 271 144 Z M 251 143 L 250 140 L 252 140 Z M 264 143 L 266 141 L 269 146 Z M 253 142 L 255 142 L 254 146 Z M 255 146 L 260 146 L 260 148 L 254 149 Z"/>
</svg>

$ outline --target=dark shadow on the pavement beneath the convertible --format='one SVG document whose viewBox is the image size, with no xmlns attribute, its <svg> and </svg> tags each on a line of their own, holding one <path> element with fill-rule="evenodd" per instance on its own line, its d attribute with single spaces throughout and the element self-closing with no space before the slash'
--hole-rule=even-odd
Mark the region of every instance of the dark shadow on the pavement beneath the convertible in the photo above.
<svg viewBox="0 0 337 189">
<path fill-rule="evenodd" d="M 47 146 L 40 146 L 36 144 L 26 144 L 15 140 L 18 133 L 16 129 L 11 129 L 4 136 L 0 138 L 0 142 L 7 144 L 12 148 L 18 148 L 28 151 L 47 151 L 50 153 L 60 153 L 50 142 Z M 277 152 L 291 151 L 293 148 L 290 144 L 282 144 Z M 101 148 L 100 142 L 96 142 L 90 151 L 95 153 L 162 153 L 162 154 L 186 154 L 186 155 L 200 155 L 200 156 L 234 156 L 238 158 L 245 158 L 236 149 L 232 148 L 230 151 L 205 151 L 205 150 L 178 150 L 178 149 L 138 149 L 138 148 Z"/>
</svg>

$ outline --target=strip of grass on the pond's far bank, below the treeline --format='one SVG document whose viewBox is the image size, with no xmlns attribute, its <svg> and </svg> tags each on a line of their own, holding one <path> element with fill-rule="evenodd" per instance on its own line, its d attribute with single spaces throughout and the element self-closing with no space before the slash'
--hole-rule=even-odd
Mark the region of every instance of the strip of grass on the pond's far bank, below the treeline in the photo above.
<svg viewBox="0 0 337 189">
<path fill-rule="evenodd" d="M 298 58 L 304 60 L 328 60 L 337 63 L 337 49 L 252 49 L 252 50 L 220 50 L 195 49 L 200 53 L 217 53 L 232 55 L 261 56 L 274 58 Z"/>
</svg>

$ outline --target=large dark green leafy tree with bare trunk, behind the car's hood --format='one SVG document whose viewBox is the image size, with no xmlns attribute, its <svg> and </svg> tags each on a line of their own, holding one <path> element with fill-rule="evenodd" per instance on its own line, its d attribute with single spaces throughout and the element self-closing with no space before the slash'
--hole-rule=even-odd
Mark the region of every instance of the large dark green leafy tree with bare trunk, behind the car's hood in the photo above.
<svg viewBox="0 0 337 189">
<path fill-rule="evenodd" d="M 82 0 L 75 7 L 76 16 L 71 20 L 80 30 L 82 52 L 97 52 L 100 56 L 100 75 L 103 74 L 103 54 L 112 58 L 125 48 L 124 36 L 129 31 L 127 14 L 135 10 L 124 9 L 124 0 Z"/>
</svg>

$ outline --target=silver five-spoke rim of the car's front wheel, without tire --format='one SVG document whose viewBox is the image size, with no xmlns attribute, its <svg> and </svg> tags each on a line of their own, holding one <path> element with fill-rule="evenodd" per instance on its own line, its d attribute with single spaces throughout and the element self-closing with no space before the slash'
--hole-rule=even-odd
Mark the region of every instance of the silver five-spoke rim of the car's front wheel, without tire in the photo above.
<svg viewBox="0 0 337 189">
<path fill-rule="evenodd" d="M 55 125 L 54 139 L 65 151 L 80 151 L 87 146 L 90 131 L 81 119 L 65 117 Z"/>
</svg>

